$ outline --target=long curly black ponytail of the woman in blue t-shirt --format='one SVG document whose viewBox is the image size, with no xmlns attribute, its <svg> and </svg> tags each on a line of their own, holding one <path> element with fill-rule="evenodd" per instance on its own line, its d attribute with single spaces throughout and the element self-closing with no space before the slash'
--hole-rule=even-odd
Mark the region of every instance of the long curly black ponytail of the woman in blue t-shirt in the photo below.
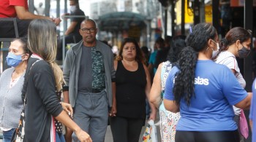
<svg viewBox="0 0 256 142">
<path fill-rule="evenodd" d="M 209 23 L 199 23 L 192 28 L 186 39 L 185 47 L 178 57 L 178 68 L 180 71 L 176 74 L 173 94 L 177 105 L 180 104 L 181 98 L 190 105 L 192 96 L 195 97 L 195 66 L 197 63 L 198 52 L 206 50 L 208 40 L 214 39 L 217 31 Z"/>
</svg>

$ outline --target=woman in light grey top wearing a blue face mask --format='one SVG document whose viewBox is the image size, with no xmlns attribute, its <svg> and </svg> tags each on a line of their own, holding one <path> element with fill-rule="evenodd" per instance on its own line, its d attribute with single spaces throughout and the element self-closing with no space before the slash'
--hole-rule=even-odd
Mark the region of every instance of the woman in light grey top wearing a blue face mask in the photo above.
<svg viewBox="0 0 256 142">
<path fill-rule="evenodd" d="M 0 129 L 3 131 L 4 142 L 11 141 L 23 107 L 21 90 L 29 59 L 26 42 L 25 38 L 14 39 L 11 42 L 7 65 L 12 68 L 7 68 L 0 77 Z"/>
</svg>

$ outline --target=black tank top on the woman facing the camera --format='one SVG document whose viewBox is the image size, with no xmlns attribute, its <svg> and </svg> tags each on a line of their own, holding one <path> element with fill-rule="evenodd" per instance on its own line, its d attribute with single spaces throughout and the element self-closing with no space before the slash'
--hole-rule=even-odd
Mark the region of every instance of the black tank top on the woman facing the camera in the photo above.
<svg viewBox="0 0 256 142">
<path fill-rule="evenodd" d="M 142 63 L 137 71 L 128 71 L 121 60 L 116 68 L 116 109 L 118 117 L 146 117 L 146 72 Z"/>
</svg>

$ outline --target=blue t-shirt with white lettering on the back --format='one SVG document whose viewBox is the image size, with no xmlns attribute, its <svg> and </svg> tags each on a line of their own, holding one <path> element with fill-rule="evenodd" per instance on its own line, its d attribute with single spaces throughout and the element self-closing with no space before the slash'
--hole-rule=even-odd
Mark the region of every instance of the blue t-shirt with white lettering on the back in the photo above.
<svg viewBox="0 0 256 142">
<path fill-rule="evenodd" d="M 164 98 L 174 100 L 173 82 L 178 68 L 173 67 L 166 81 Z M 237 130 L 233 121 L 233 105 L 246 98 L 236 76 L 226 66 L 212 60 L 197 60 L 195 68 L 195 97 L 190 106 L 180 102 L 181 119 L 176 130 L 222 131 Z"/>
</svg>

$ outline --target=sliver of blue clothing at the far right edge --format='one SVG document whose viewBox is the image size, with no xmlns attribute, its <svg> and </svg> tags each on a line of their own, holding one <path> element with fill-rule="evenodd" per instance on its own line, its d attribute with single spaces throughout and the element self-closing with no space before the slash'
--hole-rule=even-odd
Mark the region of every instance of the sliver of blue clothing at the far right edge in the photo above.
<svg viewBox="0 0 256 142">
<path fill-rule="evenodd" d="M 252 103 L 249 112 L 249 119 L 252 120 L 252 142 L 256 142 L 256 79 L 252 84 Z"/>
</svg>

